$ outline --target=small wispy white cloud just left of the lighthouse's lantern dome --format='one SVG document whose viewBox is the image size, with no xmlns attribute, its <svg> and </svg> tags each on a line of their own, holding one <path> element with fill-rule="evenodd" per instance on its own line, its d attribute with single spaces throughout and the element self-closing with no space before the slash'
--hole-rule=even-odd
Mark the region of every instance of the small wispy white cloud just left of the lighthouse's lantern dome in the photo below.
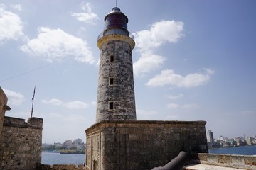
<svg viewBox="0 0 256 170">
<path fill-rule="evenodd" d="M 92 8 L 90 3 L 82 3 L 81 8 L 83 11 L 82 13 L 71 13 L 71 16 L 74 16 L 78 21 L 82 21 L 85 23 L 95 24 L 95 21 L 99 19 L 97 14 L 92 13 Z"/>
</svg>

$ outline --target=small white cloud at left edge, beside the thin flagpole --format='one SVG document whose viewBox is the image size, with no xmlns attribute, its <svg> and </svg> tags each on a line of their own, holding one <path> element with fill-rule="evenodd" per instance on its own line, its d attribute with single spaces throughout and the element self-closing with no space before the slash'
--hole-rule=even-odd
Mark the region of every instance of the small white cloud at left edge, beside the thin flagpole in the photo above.
<svg viewBox="0 0 256 170">
<path fill-rule="evenodd" d="M 3 90 L 4 90 L 4 93 L 6 94 L 6 96 L 8 98 L 8 103 L 7 104 L 9 106 L 12 106 L 12 105 L 19 106 L 19 105 L 21 105 L 21 103 L 23 103 L 23 101 L 25 101 L 25 98 L 22 94 L 20 94 L 18 92 L 6 90 L 6 89 L 3 89 Z"/>
</svg>

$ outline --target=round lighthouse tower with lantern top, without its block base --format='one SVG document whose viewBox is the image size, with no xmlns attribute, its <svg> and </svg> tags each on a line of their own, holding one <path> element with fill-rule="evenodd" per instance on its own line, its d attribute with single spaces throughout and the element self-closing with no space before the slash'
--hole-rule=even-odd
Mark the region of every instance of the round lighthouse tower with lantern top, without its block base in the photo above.
<svg viewBox="0 0 256 170">
<path fill-rule="evenodd" d="M 128 18 L 114 7 L 105 16 L 105 30 L 100 33 L 100 71 L 97 89 L 96 122 L 135 120 L 132 49 L 134 36 L 127 30 Z"/>
</svg>

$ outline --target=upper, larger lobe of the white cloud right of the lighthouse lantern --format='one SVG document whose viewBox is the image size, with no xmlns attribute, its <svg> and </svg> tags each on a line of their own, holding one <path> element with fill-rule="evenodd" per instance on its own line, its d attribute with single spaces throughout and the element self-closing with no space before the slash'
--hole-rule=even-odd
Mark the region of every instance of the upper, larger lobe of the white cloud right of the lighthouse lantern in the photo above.
<svg viewBox="0 0 256 170">
<path fill-rule="evenodd" d="M 142 51 L 151 51 L 164 42 L 177 42 L 183 37 L 183 23 L 176 21 L 160 21 L 154 23 L 150 30 L 134 33 L 136 47 Z"/>
</svg>

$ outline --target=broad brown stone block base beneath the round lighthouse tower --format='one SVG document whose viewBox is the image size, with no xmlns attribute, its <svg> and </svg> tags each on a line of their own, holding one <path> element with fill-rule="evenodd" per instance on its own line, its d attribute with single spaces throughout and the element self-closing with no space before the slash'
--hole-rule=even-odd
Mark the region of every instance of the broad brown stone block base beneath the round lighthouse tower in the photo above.
<svg viewBox="0 0 256 170">
<path fill-rule="evenodd" d="M 178 153 L 207 153 L 205 121 L 105 120 L 85 130 L 87 169 L 148 170 Z"/>
</svg>

